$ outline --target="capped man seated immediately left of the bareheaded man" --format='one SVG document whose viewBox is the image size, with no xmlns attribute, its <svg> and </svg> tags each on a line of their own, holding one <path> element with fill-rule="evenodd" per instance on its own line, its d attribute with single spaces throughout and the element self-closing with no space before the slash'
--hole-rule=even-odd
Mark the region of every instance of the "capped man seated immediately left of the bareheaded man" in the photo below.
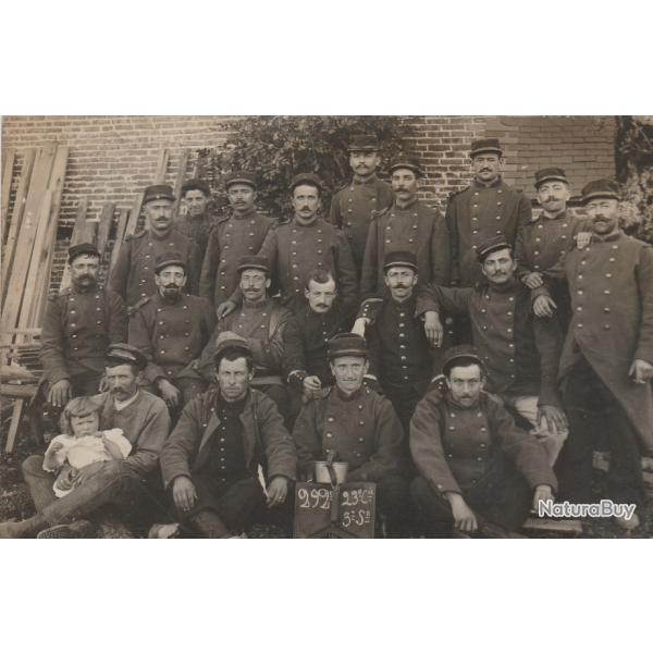
<svg viewBox="0 0 653 653">
<path fill-rule="evenodd" d="M 241 305 L 218 321 L 213 335 L 200 359 L 200 371 L 207 381 L 213 379 L 213 357 L 218 338 L 242 337 L 254 357 L 252 387 L 274 399 L 286 421 L 289 419 L 288 396 L 282 378 L 283 332 L 291 311 L 279 299 L 268 297 L 270 269 L 262 256 L 244 256 L 237 267 L 241 275 Z"/>
</svg>

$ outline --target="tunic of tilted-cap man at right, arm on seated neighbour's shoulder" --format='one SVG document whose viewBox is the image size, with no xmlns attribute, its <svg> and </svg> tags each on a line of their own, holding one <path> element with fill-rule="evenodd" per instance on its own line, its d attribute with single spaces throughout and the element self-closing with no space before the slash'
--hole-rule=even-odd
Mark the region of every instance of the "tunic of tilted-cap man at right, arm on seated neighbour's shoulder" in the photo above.
<svg viewBox="0 0 653 653">
<path fill-rule="evenodd" d="M 490 392 L 539 395 L 540 405 L 560 406 L 559 326 L 553 318 L 532 315 L 531 293 L 520 281 L 514 279 L 496 287 L 429 286 L 420 291 L 417 308 L 420 315 L 426 310 L 469 315 Z"/>
</svg>

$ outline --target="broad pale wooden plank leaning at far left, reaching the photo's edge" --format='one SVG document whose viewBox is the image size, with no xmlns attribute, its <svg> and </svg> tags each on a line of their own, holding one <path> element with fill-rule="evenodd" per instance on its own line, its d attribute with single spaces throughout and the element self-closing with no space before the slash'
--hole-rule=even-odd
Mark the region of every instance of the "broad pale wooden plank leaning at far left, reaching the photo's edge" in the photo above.
<svg viewBox="0 0 653 653">
<path fill-rule="evenodd" d="M 21 306 L 23 304 L 23 292 L 29 271 L 29 261 L 37 236 L 39 219 L 44 217 L 44 195 L 50 181 L 52 163 L 54 161 L 56 146 L 48 144 L 39 149 L 34 164 L 29 190 L 25 202 L 23 223 L 19 234 L 13 266 L 7 288 L 7 296 L 0 322 L 0 343 L 7 342 L 5 330 L 13 329 L 19 324 Z M 47 220 L 47 215 L 45 217 Z M 11 338 L 9 340 L 11 342 Z"/>
</svg>

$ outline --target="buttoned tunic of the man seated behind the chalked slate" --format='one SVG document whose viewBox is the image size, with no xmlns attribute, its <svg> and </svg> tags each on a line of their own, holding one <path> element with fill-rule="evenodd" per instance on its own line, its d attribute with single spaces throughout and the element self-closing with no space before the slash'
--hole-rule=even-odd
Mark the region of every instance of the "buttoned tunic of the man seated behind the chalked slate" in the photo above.
<svg viewBox="0 0 653 653">
<path fill-rule="evenodd" d="M 373 390 L 346 396 L 334 386 L 301 409 L 293 438 L 300 469 L 333 453 L 349 464 L 348 481 L 377 482 L 397 471 L 404 430 L 392 404 Z"/>
</svg>

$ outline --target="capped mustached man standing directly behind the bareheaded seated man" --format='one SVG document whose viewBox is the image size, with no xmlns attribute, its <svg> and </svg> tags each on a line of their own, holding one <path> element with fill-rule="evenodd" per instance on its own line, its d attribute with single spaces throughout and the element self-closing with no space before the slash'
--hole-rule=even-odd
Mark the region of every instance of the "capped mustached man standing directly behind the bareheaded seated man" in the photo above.
<svg viewBox="0 0 653 653">
<path fill-rule="evenodd" d="M 318 268 L 331 272 L 343 306 L 354 311 L 358 283 L 352 250 L 340 229 L 318 218 L 321 187 L 315 174 L 295 175 L 291 184 L 295 215 L 268 232 L 258 254 L 268 259 L 284 306 L 298 309 L 304 305 L 306 280 Z M 239 293 L 235 293 L 221 315 L 233 310 L 238 301 Z"/>
</svg>

